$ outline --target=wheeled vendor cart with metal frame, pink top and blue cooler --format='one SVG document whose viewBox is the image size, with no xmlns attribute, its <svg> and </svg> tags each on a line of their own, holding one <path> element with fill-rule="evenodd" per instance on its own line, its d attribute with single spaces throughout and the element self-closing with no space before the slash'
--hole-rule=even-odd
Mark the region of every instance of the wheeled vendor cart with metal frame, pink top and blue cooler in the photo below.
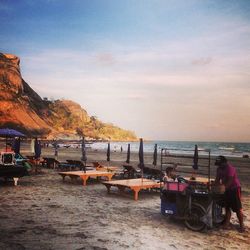
<svg viewBox="0 0 250 250">
<path fill-rule="evenodd" d="M 211 188 L 210 150 L 161 150 L 161 170 L 172 166 L 181 177 L 161 185 L 161 213 L 202 231 L 223 222 L 223 194 Z M 199 154 L 198 154 L 199 153 Z M 194 166 L 196 164 L 196 166 Z"/>
</svg>

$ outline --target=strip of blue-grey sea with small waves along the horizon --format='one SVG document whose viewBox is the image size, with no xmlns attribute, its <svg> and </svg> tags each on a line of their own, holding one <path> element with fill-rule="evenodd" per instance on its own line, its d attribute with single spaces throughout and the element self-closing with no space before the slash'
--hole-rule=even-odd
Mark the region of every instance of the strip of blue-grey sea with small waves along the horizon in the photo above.
<svg viewBox="0 0 250 250">
<path fill-rule="evenodd" d="M 121 147 L 123 151 L 127 151 L 128 143 L 130 143 L 131 152 L 138 152 L 139 142 L 110 142 L 110 147 L 112 151 L 121 151 Z M 250 156 L 250 143 L 233 142 L 145 141 L 143 143 L 144 152 L 153 152 L 155 144 L 157 144 L 158 153 L 162 148 L 174 150 L 176 153 L 186 153 L 185 150 L 194 150 L 195 145 L 198 145 L 199 150 L 210 150 L 211 155 L 242 157 L 247 154 Z M 107 146 L 107 142 L 91 144 L 91 148 L 97 150 L 105 150 Z M 193 154 L 193 151 L 190 153 Z"/>
</svg>

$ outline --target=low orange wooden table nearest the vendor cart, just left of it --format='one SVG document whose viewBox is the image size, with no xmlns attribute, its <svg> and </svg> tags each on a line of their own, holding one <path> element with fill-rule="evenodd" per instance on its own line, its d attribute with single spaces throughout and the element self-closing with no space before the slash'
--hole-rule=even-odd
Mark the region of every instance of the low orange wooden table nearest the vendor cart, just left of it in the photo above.
<svg viewBox="0 0 250 250">
<path fill-rule="evenodd" d="M 106 186 L 108 193 L 111 187 L 117 187 L 120 192 L 124 192 L 125 188 L 134 191 L 134 200 L 138 200 L 138 193 L 143 189 L 160 188 L 160 183 L 149 179 L 127 179 L 102 182 Z"/>
</svg>

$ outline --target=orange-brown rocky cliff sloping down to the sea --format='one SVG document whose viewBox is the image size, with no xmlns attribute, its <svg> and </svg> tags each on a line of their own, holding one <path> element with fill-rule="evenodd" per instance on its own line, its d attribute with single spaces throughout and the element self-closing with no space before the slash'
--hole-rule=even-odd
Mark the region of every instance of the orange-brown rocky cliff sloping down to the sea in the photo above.
<svg viewBox="0 0 250 250">
<path fill-rule="evenodd" d="M 20 59 L 0 53 L 0 127 L 43 137 L 135 140 L 133 132 L 89 116 L 70 100 L 43 100 L 23 79 Z"/>
</svg>

